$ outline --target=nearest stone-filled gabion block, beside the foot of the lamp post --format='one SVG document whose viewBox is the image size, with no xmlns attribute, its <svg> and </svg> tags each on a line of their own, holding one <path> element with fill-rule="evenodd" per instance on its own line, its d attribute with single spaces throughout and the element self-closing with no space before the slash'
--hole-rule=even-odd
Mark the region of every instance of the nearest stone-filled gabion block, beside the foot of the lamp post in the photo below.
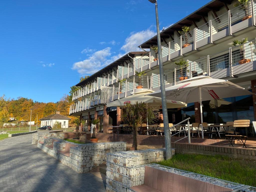
<svg viewBox="0 0 256 192">
<path fill-rule="evenodd" d="M 145 164 L 164 158 L 165 148 L 108 153 L 106 191 L 132 191 L 130 187 L 144 184 Z"/>
</svg>

